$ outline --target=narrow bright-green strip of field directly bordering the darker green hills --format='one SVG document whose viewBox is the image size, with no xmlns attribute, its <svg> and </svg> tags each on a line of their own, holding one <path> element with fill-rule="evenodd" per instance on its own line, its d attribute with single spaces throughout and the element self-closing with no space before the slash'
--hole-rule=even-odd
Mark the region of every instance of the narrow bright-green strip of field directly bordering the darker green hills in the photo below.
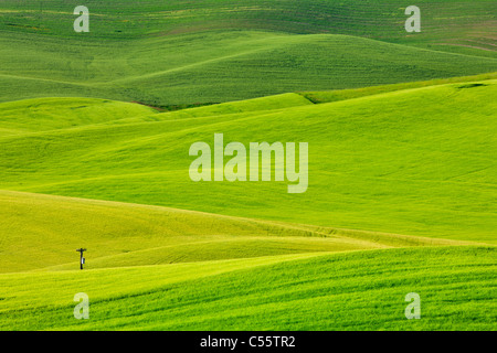
<svg viewBox="0 0 497 353">
<path fill-rule="evenodd" d="M 163 111 L 159 107 L 145 106 L 136 101 L 126 103 L 103 98 L 28 98 L 0 103 L 0 138 L 10 135 L 34 135 L 51 130 L 77 129 L 101 125 L 105 127 L 108 125 L 209 117 L 219 119 L 223 116 L 231 119 L 237 115 L 243 116 L 244 113 L 261 115 L 279 109 L 357 99 L 408 89 L 442 87 L 448 84 L 462 84 L 461 87 L 473 88 L 485 86 L 486 82 L 491 83 L 496 79 L 497 72 L 363 88 L 284 93 L 202 107 L 178 108 L 173 111 Z M 201 122 L 201 119 L 198 122 Z"/>
</svg>

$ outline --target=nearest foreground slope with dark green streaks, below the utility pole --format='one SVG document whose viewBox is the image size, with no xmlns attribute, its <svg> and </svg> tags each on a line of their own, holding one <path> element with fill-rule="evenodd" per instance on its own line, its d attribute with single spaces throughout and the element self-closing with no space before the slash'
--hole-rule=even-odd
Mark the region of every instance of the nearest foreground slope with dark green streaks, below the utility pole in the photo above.
<svg viewBox="0 0 497 353">
<path fill-rule="evenodd" d="M 496 248 L 0 275 L 2 330 L 495 330 Z M 89 320 L 73 318 L 86 292 Z M 406 320 L 404 298 L 421 297 Z"/>
</svg>

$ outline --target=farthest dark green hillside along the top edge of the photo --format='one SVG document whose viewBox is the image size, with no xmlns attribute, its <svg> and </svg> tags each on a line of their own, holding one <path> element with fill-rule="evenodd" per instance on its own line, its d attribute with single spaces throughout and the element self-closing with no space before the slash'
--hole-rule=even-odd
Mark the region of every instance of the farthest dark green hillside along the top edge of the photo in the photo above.
<svg viewBox="0 0 497 353">
<path fill-rule="evenodd" d="M 207 30 L 264 30 L 287 33 L 334 33 L 416 44 L 444 50 L 495 51 L 491 0 L 419 0 L 422 32 L 404 31 L 404 0 L 161 0 L 134 2 L 87 0 L 92 39 L 135 39 Z M 72 31 L 76 4 L 60 0 L 2 1 L 0 30 L 77 36 Z"/>
</svg>

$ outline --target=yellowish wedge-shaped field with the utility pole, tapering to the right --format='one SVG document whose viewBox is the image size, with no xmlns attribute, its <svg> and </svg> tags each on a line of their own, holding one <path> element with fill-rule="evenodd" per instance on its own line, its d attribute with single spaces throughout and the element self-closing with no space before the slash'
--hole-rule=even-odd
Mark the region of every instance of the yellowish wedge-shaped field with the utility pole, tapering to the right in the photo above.
<svg viewBox="0 0 497 353">
<path fill-rule="evenodd" d="M 0 191 L 0 272 L 470 244 Z"/>
</svg>

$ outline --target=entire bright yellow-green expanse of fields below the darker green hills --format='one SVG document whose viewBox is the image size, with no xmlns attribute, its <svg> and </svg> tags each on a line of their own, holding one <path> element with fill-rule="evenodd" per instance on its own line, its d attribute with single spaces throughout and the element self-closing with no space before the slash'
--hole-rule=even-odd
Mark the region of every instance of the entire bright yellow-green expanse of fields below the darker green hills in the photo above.
<svg viewBox="0 0 497 353">
<path fill-rule="evenodd" d="M 0 329 L 495 330 L 496 89 L 3 103 Z M 309 142 L 308 191 L 192 182 L 188 149 L 215 132 Z"/>
</svg>

